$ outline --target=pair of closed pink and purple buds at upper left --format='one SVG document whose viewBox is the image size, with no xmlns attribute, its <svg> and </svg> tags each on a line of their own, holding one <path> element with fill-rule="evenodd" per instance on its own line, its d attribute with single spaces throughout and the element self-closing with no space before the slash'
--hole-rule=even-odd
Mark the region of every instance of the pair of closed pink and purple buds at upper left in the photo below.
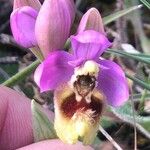
<svg viewBox="0 0 150 150">
<path fill-rule="evenodd" d="M 34 48 L 46 58 L 68 39 L 75 16 L 73 0 L 14 0 L 10 17 L 13 36 L 25 48 Z"/>
</svg>

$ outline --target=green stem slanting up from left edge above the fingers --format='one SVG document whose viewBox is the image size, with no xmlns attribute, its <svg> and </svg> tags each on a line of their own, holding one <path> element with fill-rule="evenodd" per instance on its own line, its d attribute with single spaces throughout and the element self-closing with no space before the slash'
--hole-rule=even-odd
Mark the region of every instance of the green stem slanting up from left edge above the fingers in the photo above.
<svg viewBox="0 0 150 150">
<path fill-rule="evenodd" d="M 14 86 L 16 83 L 23 80 L 26 76 L 30 75 L 35 70 L 35 68 L 39 65 L 39 63 L 40 61 L 36 60 L 32 64 L 30 64 L 28 67 L 26 67 L 22 71 L 18 72 L 17 74 L 15 74 L 14 76 L 6 80 L 2 85 L 8 86 L 8 87 Z"/>
</svg>

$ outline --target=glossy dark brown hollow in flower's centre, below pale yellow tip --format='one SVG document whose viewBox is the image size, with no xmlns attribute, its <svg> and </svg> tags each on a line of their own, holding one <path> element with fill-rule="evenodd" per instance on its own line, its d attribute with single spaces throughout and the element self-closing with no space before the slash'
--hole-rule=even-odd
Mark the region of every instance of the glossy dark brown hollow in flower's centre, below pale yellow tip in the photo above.
<svg viewBox="0 0 150 150">
<path fill-rule="evenodd" d="M 74 82 L 74 87 L 78 94 L 83 98 L 87 96 L 95 88 L 96 78 L 94 76 L 79 75 L 77 81 Z"/>
</svg>

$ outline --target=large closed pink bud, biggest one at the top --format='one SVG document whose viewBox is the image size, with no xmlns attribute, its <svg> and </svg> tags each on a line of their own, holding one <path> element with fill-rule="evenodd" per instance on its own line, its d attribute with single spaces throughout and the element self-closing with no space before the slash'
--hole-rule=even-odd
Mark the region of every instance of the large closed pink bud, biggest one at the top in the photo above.
<svg viewBox="0 0 150 150">
<path fill-rule="evenodd" d="M 45 0 L 37 17 L 35 34 L 45 57 L 62 49 L 75 15 L 73 0 Z"/>
</svg>

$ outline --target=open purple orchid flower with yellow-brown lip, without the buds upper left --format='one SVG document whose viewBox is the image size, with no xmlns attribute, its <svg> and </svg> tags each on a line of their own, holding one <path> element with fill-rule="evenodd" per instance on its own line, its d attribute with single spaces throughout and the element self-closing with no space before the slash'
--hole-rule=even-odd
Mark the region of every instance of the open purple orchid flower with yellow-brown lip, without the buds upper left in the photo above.
<svg viewBox="0 0 150 150">
<path fill-rule="evenodd" d="M 91 144 L 105 103 L 120 106 L 129 96 L 121 67 L 100 57 L 111 43 L 97 12 L 90 9 L 82 17 L 77 34 L 70 37 L 71 53 L 55 49 L 34 75 L 41 92 L 55 90 L 54 126 L 66 143 L 80 138 Z"/>
</svg>

